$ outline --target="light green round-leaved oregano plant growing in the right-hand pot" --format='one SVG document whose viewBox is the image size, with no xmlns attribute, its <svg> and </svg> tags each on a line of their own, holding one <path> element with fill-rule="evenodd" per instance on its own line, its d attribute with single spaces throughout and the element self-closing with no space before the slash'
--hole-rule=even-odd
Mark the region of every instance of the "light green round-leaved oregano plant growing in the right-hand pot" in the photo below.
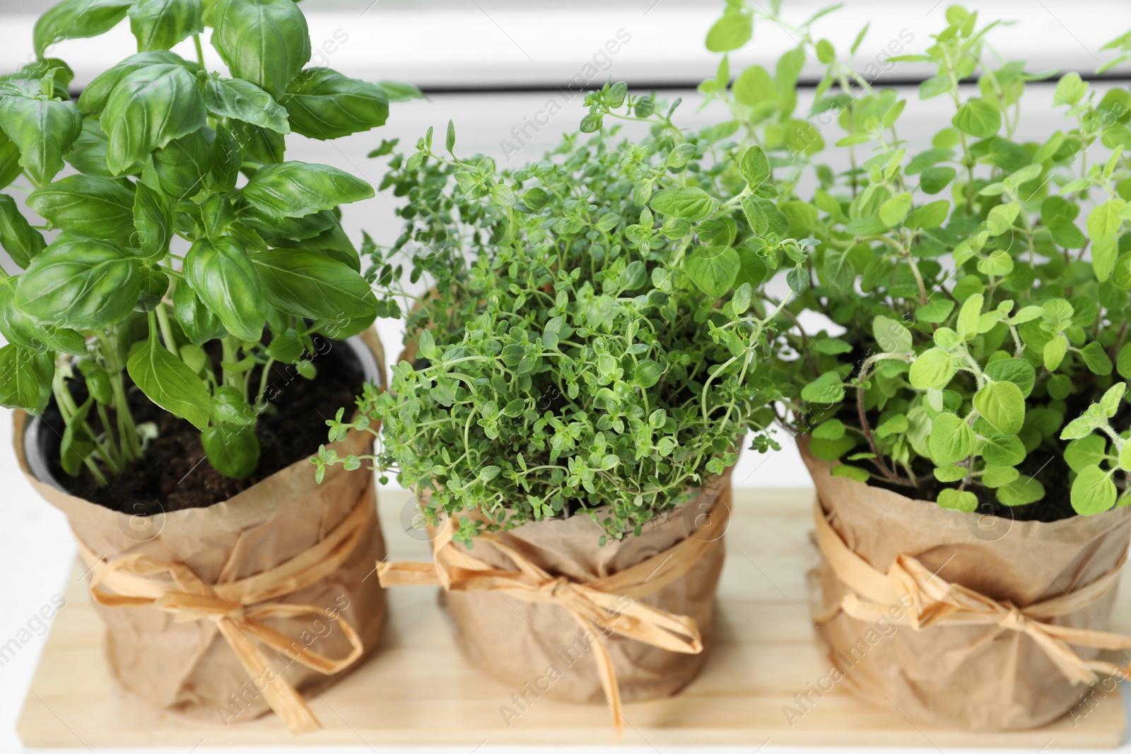
<svg viewBox="0 0 1131 754">
<path fill-rule="evenodd" d="M 766 148 L 788 233 L 817 242 L 777 344 L 787 423 L 840 461 L 834 475 L 944 508 L 1055 520 L 1131 501 L 1131 94 L 1060 75 L 1062 123 L 1022 139 L 1027 87 L 1055 73 L 998 60 L 999 24 L 950 6 L 922 52 L 890 58 L 933 67 L 918 97 L 952 105 L 913 151 L 908 99 L 857 71 L 867 27 L 846 55 L 815 38 L 830 10 L 793 24 L 780 2 L 728 1 L 708 47 L 737 50 L 765 23 L 798 46 L 734 81 L 724 55 L 700 87 Z M 824 73 L 798 118 L 808 58 Z M 826 137 L 836 168 L 819 162 Z"/>
</svg>

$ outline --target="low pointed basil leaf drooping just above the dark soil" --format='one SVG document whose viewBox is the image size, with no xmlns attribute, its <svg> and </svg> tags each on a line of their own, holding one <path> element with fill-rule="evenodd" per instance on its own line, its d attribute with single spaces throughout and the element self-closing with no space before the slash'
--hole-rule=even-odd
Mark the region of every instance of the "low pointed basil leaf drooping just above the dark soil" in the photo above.
<svg viewBox="0 0 1131 754">
<path fill-rule="evenodd" d="M 173 416 L 188 419 L 198 430 L 208 425 L 211 398 L 204 381 L 157 341 L 155 331 L 130 356 L 126 371 L 149 400 Z"/>
</svg>

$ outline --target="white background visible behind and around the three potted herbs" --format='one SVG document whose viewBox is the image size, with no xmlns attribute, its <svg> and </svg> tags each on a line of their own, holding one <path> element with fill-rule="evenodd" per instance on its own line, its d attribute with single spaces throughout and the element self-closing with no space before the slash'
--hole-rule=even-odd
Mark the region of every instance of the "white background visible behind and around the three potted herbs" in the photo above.
<svg viewBox="0 0 1131 754">
<path fill-rule="evenodd" d="M 21 11 L 31 9 L 38 12 L 41 8 L 33 6 L 42 5 L 45 3 L 0 0 L 0 71 L 12 70 L 26 60 L 35 14 Z M 792 20 L 801 20 L 820 7 L 789 0 L 785 5 L 786 16 Z M 863 67 L 874 61 L 900 34 L 904 38 L 908 35 L 914 38 L 908 45 L 909 51 L 918 51 L 930 44 L 929 34 L 943 24 L 946 5 L 935 0 L 851 0 L 847 8 L 819 21 L 817 32 L 844 47 L 851 43 L 856 31 L 870 21 L 871 32 L 860 49 L 858 60 Z M 1030 70 L 1068 68 L 1088 72 L 1099 60 L 1106 59 L 1098 52 L 1099 46 L 1131 26 L 1131 3 L 1125 0 L 1026 0 L 982 5 L 986 8 L 984 17 L 992 14 L 992 17 L 1022 21 L 1001 29 L 992 38 L 1003 58 L 1027 59 Z M 373 5 L 369 0 L 353 3 L 307 0 L 302 7 L 310 19 L 311 38 L 314 49 L 321 50 L 325 57 L 325 61 L 316 62 L 347 75 L 377 80 L 408 80 L 425 88 L 449 92 L 516 86 L 541 87 L 543 90 L 434 94 L 426 102 L 394 105 L 389 124 L 368 135 L 355 135 L 335 142 L 288 137 L 288 155 L 296 159 L 337 165 L 378 184 L 383 166 L 366 159 L 365 154 L 382 138 L 400 138 L 411 145 L 429 125 L 434 125 L 442 133 L 451 118 L 456 122 L 457 151 L 460 154 L 490 154 L 500 164 L 508 165 L 535 159 L 556 142 L 561 131 L 572 130 L 582 114 L 580 97 L 569 99 L 559 87 L 564 87 L 567 81 L 582 72 L 618 31 L 623 29 L 631 35 L 631 40 L 610 57 L 607 64 L 605 60 L 596 59 L 598 67 L 605 68 L 601 80 L 611 76 L 614 80 L 644 86 L 693 86 L 711 76 L 717 60 L 702 50 L 702 40 L 720 6 L 713 0 L 580 0 L 568 5 L 530 0 L 385 0 Z M 343 33 L 347 37 L 345 41 L 342 41 Z M 788 34 L 763 25 L 756 31 L 756 43 L 735 57 L 732 70 L 740 70 L 748 62 L 771 64 L 788 46 L 792 46 Z M 131 50 L 131 37 L 127 27 L 121 25 L 96 41 L 66 42 L 53 54 L 70 62 L 77 73 L 75 86 L 80 87 Z M 209 66 L 221 68 L 207 45 L 206 53 Z M 810 61 L 805 76 L 813 76 L 817 70 L 815 62 Z M 908 63 L 889 64 L 884 71 L 886 78 L 900 80 L 922 75 L 923 69 Z M 1051 90 L 1047 87 L 1033 89 L 1026 103 L 1025 125 L 1018 137 L 1043 140 L 1056 128 L 1069 128 L 1062 125 L 1059 114 L 1051 111 Z M 680 94 L 684 96 L 687 124 L 708 122 L 718 116 L 717 111 L 710 110 L 694 113 L 693 92 L 664 93 L 663 96 L 671 98 Z M 951 113 L 941 98 L 918 103 L 913 89 L 907 94 L 912 102 L 900 120 L 901 135 L 910 137 L 914 150 L 924 146 L 925 138 L 944 124 Z M 563 106 L 563 112 L 508 162 L 501 140 L 512 139 L 511 129 L 520 128 L 525 118 L 544 109 L 551 98 Z M 830 129 L 826 138 L 834 141 L 837 138 L 835 129 Z M 390 242 L 399 231 L 392 215 L 395 201 L 391 196 L 378 196 L 348 207 L 345 216 L 347 231 L 356 239 L 364 227 L 378 242 Z M 2 255 L 0 259 L 9 263 Z M 400 328 L 391 321 L 379 324 L 388 356 L 392 359 L 399 350 Z M 0 527 L 0 574 L 5 574 L 0 592 L 3 598 L 0 643 L 15 635 L 41 606 L 62 591 L 75 554 L 63 517 L 40 500 L 19 474 L 15 457 L 8 450 L 10 435 L 9 411 L 0 409 L 0 502 L 5 522 Z M 786 448 L 780 453 L 760 457 L 748 452 L 740 460 L 735 483 L 759 487 L 810 486 L 796 451 L 786 437 L 783 441 Z M 43 638 L 34 639 L 15 659 L 0 667 L 0 752 L 24 751 L 14 727 L 43 642 Z M 86 751 L 80 740 L 81 731 L 76 733 L 77 748 L 72 751 Z M 732 751 L 750 753 L 761 742 L 751 742 L 749 747 Z M 1131 747 L 1124 748 L 1131 751 Z M 463 748 L 442 751 L 465 752 Z M 491 747 L 484 746 L 478 751 L 491 751 Z M 762 751 L 775 751 L 772 742 Z"/>
</svg>

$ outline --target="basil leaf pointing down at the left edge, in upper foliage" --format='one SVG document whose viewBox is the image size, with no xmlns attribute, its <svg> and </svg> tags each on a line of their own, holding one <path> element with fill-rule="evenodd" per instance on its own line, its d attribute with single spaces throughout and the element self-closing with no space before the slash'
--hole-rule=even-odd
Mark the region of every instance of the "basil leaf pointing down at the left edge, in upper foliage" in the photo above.
<svg viewBox="0 0 1131 754">
<path fill-rule="evenodd" d="M 0 129 L 19 149 L 19 164 L 37 185 L 63 168 L 63 155 L 83 132 L 74 102 L 0 95 Z"/>
</svg>

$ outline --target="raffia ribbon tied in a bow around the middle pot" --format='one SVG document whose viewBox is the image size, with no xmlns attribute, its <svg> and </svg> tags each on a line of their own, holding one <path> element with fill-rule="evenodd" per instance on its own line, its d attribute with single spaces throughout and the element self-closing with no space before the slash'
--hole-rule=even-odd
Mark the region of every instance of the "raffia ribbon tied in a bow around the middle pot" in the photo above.
<svg viewBox="0 0 1131 754">
<path fill-rule="evenodd" d="M 729 514 L 727 491 L 711 511 L 709 523 L 700 526 L 696 534 L 708 528 L 725 531 Z M 433 562 L 380 563 L 377 573 L 382 587 L 439 584 L 448 591 L 498 591 L 523 601 L 566 608 L 582 630 L 593 632 L 596 638 L 593 648 L 597 675 L 620 736 L 624 729 L 621 693 L 604 635 L 618 633 L 672 652 L 698 655 L 702 651 L 702 638 L 694 618 L 637 601 L 688 573 L 722 537 L 697 538 L 696 534 L 619 573 L 582 583 L 549 573 L 494 535 L 477 537 L 477 540 L 490 541 L 517 570 L 495 567 L 454 543 L 449 525 L 432 541 Z M 627 607 L 619 599 L 622 596 L 632 598 Z M 598 630 L 601 624 L 604 629 Z"/>
</svg>

